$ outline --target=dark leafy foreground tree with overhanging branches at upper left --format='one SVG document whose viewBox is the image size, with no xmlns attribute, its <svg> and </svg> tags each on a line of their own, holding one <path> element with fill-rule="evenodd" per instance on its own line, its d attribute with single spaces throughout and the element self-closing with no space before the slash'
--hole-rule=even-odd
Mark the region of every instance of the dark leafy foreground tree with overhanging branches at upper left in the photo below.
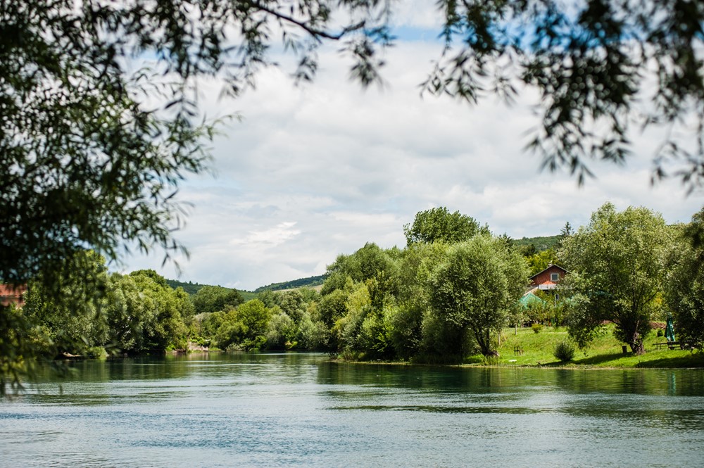
<svg viewBox="0 0 704 468">
<path fill-rule="evenodd" d="M 86 247 L 108 261 L 122 248 L 185 253 L 174 195 L 206 168 L 216 124 L 202 120 L 197 80 L 217 76 L 239 94 L 268 63 L 274 30 L 301 52 L 299 80 L 315 71 L 319 40 L 342 37 L 358 58 L 353 73 L 374 80 L 367 51 L 386 40 L 372 20 L 383 7 L 337 11 L 367 20 L 336 33 L 322 3 L 0 0 L 0 279 L 40 275 L 59 298 L 68 259 Z M 0 324 L 0 336 L 17 325 Z M 10 365 L 15 375 L 31 354 Z"/>
</svg>

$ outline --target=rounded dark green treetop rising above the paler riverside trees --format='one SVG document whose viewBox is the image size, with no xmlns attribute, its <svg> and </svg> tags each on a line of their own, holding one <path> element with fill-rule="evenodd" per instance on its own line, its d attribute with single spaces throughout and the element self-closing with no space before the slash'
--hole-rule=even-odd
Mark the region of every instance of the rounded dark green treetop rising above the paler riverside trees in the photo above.
<svg viewBox="0 0 704 468">
<path fill-rule="evenodd" d="M 409 246 L 415 242 L 455 244 L 480 233 L 489 234 L 489 228 L 459 211 L 450 213 L 444 206 L 420 211 L 415 214 L 413 224 L 403 226 Z"/>
</svg>

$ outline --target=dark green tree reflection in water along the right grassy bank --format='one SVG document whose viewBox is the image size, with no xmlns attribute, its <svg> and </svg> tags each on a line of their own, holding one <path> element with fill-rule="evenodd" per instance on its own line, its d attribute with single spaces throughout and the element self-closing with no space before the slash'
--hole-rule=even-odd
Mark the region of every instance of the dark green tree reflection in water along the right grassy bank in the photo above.
<svg viewBox="0 0 704 468">
<path fill-rule="evenodd" d="M 607 431 L 704 430 L 704 410 L 689 398 L 704 396 L 700 371 L 572 370 L 355 365 L 322 362 L 316 381 L 330 409 L 535 415 L 553 429 L 574 424 Z M 383 416 L 380 416 L 383 417 Z M 565 419 L 567 418 L 567 419 Z M 578 418 L 581 422 L 570 422 Z"/>
</svg>

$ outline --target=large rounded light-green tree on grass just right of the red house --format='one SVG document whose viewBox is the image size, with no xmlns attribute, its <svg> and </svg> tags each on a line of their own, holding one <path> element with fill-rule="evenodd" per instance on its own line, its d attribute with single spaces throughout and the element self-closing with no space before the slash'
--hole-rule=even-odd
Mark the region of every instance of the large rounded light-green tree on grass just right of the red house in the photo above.
<svg viewBox="0 0 704 468">
<path fill-rule="evenodd" d="M 611 203 L 565 239 L 560 257 L 570 270 L 574 294 L 567 322 L 581 346 L 607 320 L 615 324 L 617 339 L 636 354 L 644 352 L 669 246 L 661 215 L 633 207 L 619 213 Z"/>
</svg>

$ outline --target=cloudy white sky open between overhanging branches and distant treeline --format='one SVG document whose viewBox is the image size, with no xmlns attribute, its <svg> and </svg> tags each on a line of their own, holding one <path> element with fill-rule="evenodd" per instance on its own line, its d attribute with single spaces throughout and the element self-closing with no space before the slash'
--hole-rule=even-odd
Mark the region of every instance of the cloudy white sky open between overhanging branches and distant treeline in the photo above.
<svg viewBox="0 0 704 468">
<path fill-rule="evenodd" d="M 425 29 L 428 15 L 401 17 L 415 29 L 387 51 L 382 87 L 350 82 L 335 47 L 321 51 L 313 84 L 296 86 L 285 66 L 260 73 L 256 90 L 236 100 L 218 99 L 218 83 L 203 84 L 210 117 L 241 120 L 213 142 L 213 174 L 181 186 L 179 199 L 191 206 L 175 239 L 190 258 L 178 259 L 180 274 L 158 251 L 125 258 L 122 270 L 252 291 L 323 274 L 367 242 L 403 248 L 404 224 L 439 206 L 520 239 L 586 224 L 607 201 L 645 206 L 668 223 L 688 222 L 704 205 L 676 179 L 650 184 L 658 132 L 632 135 L 627 165 L 593 164 L 597 177 L 584 186 L 541 172 L 539 156 L 524 151 L 538 122 L 535 96 L 525 91 L 513 106 L 420 96 L 439 44 Z"/>
</svg>

